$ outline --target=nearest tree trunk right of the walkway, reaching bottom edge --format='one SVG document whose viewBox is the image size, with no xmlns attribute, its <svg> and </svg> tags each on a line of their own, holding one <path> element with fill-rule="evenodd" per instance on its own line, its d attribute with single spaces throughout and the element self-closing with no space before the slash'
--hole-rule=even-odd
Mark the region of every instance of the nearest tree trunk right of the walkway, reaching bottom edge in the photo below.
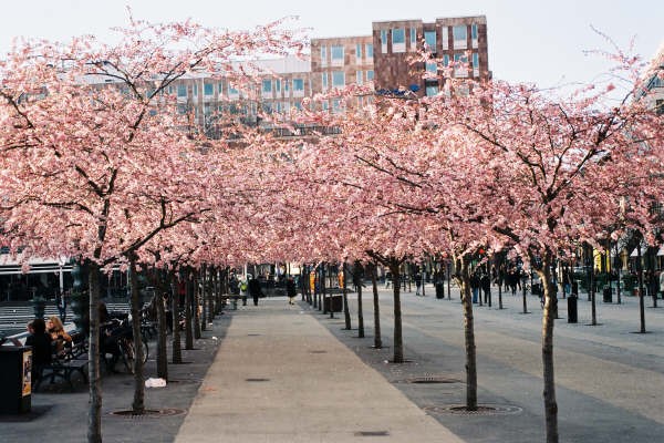
<svg viewBox="0 0 664 443">
<path fill-rule="evenodd" d="M 544 311 L 542 316 L 542 365 L 544 377 L 544 419 L 547 443 L 558 443 L 558 402 L 556 401 L 556 381 L 553 377 L 553 320 L 556 316 L 556 292 L 551 285 L 549 265 L 551 254 L 542 257 L 542 268 L 538 270 L 544 290 Z"/>
</svg>

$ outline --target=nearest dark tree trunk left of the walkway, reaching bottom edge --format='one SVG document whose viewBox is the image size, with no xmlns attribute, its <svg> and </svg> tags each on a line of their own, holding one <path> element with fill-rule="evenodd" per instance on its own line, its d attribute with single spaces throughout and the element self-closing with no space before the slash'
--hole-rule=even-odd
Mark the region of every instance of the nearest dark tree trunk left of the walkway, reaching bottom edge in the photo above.
<svg viewBox="0 0 664 443">
<path fill-rule="evenodd" d="M 89 378 L 90 409 L 87 414 L 87 443 L 102 442 L 102 377 L 100 368 L 100 267 L 91 262 L 89 267 L 90 291 L 90 336 L 89 343 Z"/>
</svg>

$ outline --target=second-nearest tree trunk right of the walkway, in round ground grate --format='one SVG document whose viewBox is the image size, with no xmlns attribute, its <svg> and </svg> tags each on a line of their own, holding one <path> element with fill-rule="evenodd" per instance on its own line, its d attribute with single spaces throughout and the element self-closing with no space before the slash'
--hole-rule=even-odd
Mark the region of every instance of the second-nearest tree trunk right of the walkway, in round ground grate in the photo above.
<svg viewBox="0 0 664 443">
<path fill-rule="evenodd" d="M 459 264 L 460 261 L 460 264 Z M 477 352 L 475 347 L 475 324 L 473 298 L 470 293 L 470 268 L 468 259 L 457 260 L 461 278 L 461 306 L 464 307 L 464 338 L 466 344 L 466 410 L 477 411 Z"/>
</svg>

